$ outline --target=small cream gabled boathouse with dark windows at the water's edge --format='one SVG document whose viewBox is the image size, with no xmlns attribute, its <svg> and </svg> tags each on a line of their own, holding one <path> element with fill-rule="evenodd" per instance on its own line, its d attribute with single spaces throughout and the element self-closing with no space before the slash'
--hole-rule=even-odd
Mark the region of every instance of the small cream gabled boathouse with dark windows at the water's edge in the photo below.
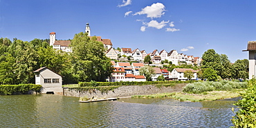
<svg viewBox="0 0 256 128">
<path fill-rule="evenodd" d="M 57 74 L 48 67 L 41 67 L 34 71 L 35 84 L 42 85 L 42 94 L 61 94 L 62 89 L 62 76 Z"/>
</svg>

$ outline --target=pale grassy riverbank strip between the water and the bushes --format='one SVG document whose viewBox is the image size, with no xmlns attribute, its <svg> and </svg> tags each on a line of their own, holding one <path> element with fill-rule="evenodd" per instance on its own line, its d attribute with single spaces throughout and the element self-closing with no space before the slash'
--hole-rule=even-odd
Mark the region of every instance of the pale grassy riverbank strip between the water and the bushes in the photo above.
<svg viewBox="0 0 256 128">
<path fill-rule="evenodd" d="M 183 92 L 172 92 L 152 95 L 134 95 L 132 98 L 161 98 L 170 97 L 176 100 L 187 101 L 187 102 L 199 102 L 199 101 L 211 101 L 221 100 L 224 98 L 235 98 L 239 97 L 239 92 L 244 92 L 244 89 L 232 89 L 231 91 L 212 91 L 203 92 L 202 94 L 186 94 Z"/>
</svg>

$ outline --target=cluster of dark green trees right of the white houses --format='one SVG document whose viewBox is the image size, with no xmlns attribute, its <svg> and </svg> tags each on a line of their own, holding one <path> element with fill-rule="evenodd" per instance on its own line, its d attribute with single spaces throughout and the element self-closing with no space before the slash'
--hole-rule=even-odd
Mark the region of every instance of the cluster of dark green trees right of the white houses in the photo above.
<svg viewBox="0 0 256 128">
<path fill-rule="evenodd" d="M 231 63 L 226 54 L 217 54 L 213 49 L 204 52 L 202 59 L 199 78 L 207 78 L 209 81 L 248 78 L 248 59 L 238 59 L 235 63 Z"/>
</svg>

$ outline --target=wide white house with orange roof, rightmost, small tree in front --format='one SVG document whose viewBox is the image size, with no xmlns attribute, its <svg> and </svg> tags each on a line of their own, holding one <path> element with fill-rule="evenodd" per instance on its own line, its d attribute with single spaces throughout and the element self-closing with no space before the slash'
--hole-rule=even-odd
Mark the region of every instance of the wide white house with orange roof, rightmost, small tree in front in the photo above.
<svg viewBox="0 0 256 128">
<path fill-rule="evenodd" d="M 196 80 L 197 79 L 197 74 L 196 72 L 198 72 L 198 70 L 192 70 L 192 69 L 186 69 L 186 68 L 174 68 L 174 70 L 172 70 L 169 78 L 174 80 L 174 81 L 187 81 L 188 78 L 184 77 L 184 72 L 190 70 L 193 72 L 193 78 L 191 78 L 191 80 Z"/>
</svg>

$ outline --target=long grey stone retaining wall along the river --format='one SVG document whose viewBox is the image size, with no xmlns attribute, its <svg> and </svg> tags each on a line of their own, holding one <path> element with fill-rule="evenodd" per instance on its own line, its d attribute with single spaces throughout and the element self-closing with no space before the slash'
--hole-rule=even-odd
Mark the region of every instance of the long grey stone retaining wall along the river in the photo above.
<svg viewBox="0 0 256 128">
<path fill-rule="evenodd" d="M 64 96 L 74 96 L 74 97 L 88 97 L 92 96 L 98 98 L 118 98 L 118 97 L 126 97 L 133 95 L 149 95 L 149 94 L 158 94 L 158 93 L 170 93 L 170 92 L 180 92 L 182 87 L 184 87 L 186 83 L 179 83 L 174 87 L 164 87 L 158 88 L 154 85 L 130 85 L 130 86 L 121 86 L 113 91 L 109 91 L 107 93 L 102 93 L 98 90 L 95 92 L 76 92 L 74 90 L 69 90 L 68 88 L 63 89 Z"/>
</svg>

